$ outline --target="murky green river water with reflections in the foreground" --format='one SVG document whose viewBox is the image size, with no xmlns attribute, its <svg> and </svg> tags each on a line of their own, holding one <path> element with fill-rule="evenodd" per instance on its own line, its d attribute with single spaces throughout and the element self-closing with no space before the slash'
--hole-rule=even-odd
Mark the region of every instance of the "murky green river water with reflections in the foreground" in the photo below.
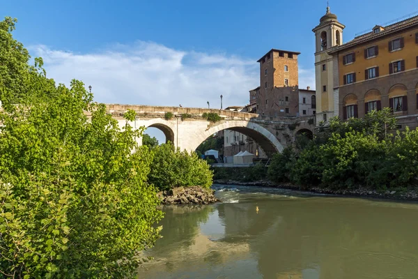
<svg viewBox="0 0 418 279">
<path fill-rule="evenodd" d="M 139 278 L 418 278 L 417 203 L 214 188 L 222 203 L 163 209 Z"/>
</svg>

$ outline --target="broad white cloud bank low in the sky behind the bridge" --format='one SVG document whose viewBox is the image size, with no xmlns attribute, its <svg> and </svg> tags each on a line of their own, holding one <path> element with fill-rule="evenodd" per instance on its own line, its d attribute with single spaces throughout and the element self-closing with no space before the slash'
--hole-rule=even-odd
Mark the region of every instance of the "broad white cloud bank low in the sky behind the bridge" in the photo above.
<svg viewBox="0 0 418 279">
<path fill-rule="evenodd" d="M 246 105 L 259 83 L 256 59 L 226 54 L 174 50 L 152 42 L 117 44 L 77 54 L 45 45 L 29 48 L 44 59 L 47 75 L 57 83 L 82 80 L 102 103 L 224 107 Z M 300 69 L 301 87 L 314 87 L 314 71 Z"/>
</svg>

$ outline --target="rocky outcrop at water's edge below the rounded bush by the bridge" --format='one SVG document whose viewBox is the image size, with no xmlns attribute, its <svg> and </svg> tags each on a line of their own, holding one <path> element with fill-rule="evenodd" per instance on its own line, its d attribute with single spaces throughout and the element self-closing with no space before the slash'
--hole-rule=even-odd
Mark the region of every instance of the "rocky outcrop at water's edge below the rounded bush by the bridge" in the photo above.
<svg viewBox="0 0 418 279">
<path fill-rule="evenodd" d="M 215 190 L 200 186 L 178 187 L 157 194 L 162 204 L 213 204 L 219 202 Z"/>
</svg>

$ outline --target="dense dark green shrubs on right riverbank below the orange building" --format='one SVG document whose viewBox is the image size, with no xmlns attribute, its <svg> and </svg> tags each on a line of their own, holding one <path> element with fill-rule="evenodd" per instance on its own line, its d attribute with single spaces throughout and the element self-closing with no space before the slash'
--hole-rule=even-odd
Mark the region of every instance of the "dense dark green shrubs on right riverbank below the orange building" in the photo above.
<svg viewBox="0 0 418 279">
<path fill-rule="evenodd" d="M 412 186 L 418 176 L 418 130 L 407 128 L 393 136 L 395 126 L 387 109 L 364 119 L 332 119 L 297 159 L 289 156 L 292 151 L 274 156 L 269 177 L 305 187 Z"/>
</svg>

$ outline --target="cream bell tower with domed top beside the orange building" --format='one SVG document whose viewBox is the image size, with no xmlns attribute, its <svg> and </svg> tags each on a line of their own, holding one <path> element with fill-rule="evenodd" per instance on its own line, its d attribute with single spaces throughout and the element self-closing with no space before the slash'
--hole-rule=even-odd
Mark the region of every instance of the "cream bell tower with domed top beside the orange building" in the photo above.
<svg viewBox="0 0 418 279">
<path fill-rule="evenodd" d="M 316 125 L 338 115 L 338 57 L 327 52 L 343 43 L 345 26 L 331 13 L 330 6 L 312 29 L 315 33 Z M 335 73 L 335 77 L 334 77 Z"/>
</svg>

